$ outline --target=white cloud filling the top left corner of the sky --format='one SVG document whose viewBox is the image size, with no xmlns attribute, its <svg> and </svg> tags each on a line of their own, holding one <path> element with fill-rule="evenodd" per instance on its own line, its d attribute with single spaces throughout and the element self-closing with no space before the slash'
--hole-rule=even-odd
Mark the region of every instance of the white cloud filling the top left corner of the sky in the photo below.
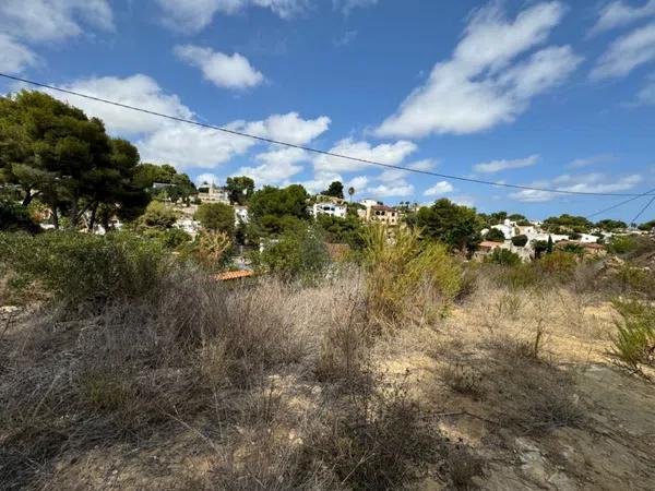
<svg viewBox="0 0 655 491">
<path fill-rule="evenodd" d="M 0 31 L 28 41 L 58 41 L 83 33 L 80 21 L 114 28 L 106 0 L 2 0 Z"/>
</svg>

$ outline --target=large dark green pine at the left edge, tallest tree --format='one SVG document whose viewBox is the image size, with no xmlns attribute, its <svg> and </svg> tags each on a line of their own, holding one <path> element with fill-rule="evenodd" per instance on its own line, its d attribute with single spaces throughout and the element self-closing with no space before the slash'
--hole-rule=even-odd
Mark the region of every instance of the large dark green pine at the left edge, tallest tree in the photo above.
<svg viewBox="0 0 655 491">
<path fill-rule="evenodd" d="M 139 153 L 112 141 L 103 122 L 39 92 L 0 98 L 0 179 L 20 190 L 27 206 L 35 196 L 52 211 L 67 213 L 72 227 L 102 204 L 120 206 L 134 197 L 128 185 Z"/>
</svg>

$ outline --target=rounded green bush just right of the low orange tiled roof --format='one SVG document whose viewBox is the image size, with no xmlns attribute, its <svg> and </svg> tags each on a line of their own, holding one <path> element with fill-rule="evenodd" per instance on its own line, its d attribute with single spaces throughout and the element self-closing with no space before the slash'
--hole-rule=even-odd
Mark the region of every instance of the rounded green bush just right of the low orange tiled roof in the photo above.
<svg viewBox="0 0 655 491">
<path fill-rule="evenodd" d="M 325 244 L 313 229 L 283 233 L 265 246 L 258 260 L 284 279 L 317 279 L 330 264 Z"/>
</svg>

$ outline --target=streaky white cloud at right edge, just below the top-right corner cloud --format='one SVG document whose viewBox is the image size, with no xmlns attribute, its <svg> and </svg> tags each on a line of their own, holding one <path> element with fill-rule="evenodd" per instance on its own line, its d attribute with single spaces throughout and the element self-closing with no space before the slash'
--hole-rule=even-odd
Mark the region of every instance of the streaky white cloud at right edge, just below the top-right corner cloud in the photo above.
<svg viewBox="0 0 655 491">
<path fill-rule="evenodd" d="M 655 23 L 638 28 L 615 40 L 600 57 L 593 80 L 624 76 L 636 67 L 655 60 Z"/>
</svg>

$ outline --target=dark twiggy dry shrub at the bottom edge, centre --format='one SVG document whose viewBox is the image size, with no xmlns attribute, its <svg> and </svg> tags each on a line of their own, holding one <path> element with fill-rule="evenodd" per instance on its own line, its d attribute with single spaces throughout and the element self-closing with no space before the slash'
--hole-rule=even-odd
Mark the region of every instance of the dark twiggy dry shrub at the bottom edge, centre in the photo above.
<svg viewBox="0 0 655 491">
<path fill-rule="evenodd" d="M 438 458 L 441 439 L 407 394 L 405 383 L 386 390 L 371 375 L 368 386 L 320 432 L 306 450 L 338 482 L 355 490 L 398 489 Z"/>
</svg>

